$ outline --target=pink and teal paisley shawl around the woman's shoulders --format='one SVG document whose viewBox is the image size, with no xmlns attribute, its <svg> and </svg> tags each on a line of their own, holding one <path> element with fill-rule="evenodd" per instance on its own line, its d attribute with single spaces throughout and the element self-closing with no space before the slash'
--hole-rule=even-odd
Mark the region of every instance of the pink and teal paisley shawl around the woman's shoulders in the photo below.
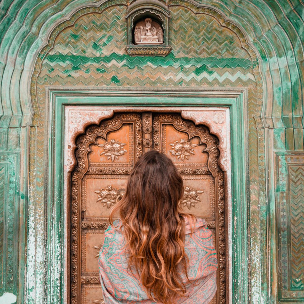
<svg viewBox="0 0 304 304">
<path fill-rule="evenodd" d="M 119 221 L 115 221 L 114 226 L 119 226 Z M 160 304 L 148 298 L 136 270 L 127 270 L 128 258 L 123 247 L 122 233 L 109 226 L 98 260 L 105 303 Z M 196 221 L 192 235 L 191 225 L 186 220 L 185 252 L 189 257 L 188 277 L 193 284 L 186 285 L 188 297 L 178 298 L 177 304 L 207 304 L 216 292 L 217 258 L 205 220 Z M 182 279 L 187 282 L 185 274 Z"/>
</svg>

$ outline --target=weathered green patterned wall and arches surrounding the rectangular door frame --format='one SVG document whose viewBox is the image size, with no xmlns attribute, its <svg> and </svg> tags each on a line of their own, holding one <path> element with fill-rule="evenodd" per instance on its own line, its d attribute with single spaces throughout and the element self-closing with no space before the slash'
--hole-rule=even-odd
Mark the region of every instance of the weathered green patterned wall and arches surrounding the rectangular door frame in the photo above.
<svg viewBox="0 0 304 304">
<path fill-rule="evenodd" d="M 171 53 L 129 57 L 126 1 L 0 2 L 0 292 L 42 303 L 50 283 L 46 87 L 216 87 L 247 89 L 244 301 L 304 301 L 303 3 L 168 5 Z"/>
</svg>

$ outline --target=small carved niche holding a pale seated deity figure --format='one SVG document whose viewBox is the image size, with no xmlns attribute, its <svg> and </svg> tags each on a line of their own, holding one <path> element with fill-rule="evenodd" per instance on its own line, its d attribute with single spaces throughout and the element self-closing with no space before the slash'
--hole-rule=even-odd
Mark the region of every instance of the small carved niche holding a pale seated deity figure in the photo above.
<svg viewBox="0 0 304 304">
<path fill-rule="evenodd" d="M 166 56 L 168 45 L 168 7 L 157 0 L 138 0 L 127 11 L 126 51 L 130 56 Z"/>
</svg>

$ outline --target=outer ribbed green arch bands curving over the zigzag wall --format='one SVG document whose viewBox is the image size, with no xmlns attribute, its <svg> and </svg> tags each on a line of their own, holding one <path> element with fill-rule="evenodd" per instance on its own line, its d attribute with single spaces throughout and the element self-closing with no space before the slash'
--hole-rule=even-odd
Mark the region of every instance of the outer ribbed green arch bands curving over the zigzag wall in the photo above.
<svg viewBox="0 0 304 304">
<path fill-rule="evenodd" d="M 8 1 L 1 3 L 0 77 L 10 82 L 7 85 L 1 81 L 2 127 L 31 124 L 33 109 L 29 79 L 37 55 L 53 29 L 79 9 L 96 7 L 103 2 L 60 0 L 57 4 L 35 1 L 14 2 L 12 5 Z M 292 5 L 291 2 L 282 5 L 279 1 L 271 0 L 255 3 L 211 0 L 204 4 L 195 1 L 185 3 L 193 9 L 209 7 L 246 33 L 248 44 L 257 50 L 264 81 L 261 114 L 266 121 L 265 126 L 302 128 L 302 5 Z M 13 22 L 14 18 L 16 21 Z"/>
</svg>

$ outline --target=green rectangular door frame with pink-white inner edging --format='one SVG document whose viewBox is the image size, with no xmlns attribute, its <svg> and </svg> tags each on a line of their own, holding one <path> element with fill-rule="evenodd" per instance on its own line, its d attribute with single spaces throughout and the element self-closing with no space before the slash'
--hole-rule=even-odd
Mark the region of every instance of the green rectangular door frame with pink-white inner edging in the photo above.
<svg viewBox="0 0 304 304">
<path fill-rule="evenodd" d="M 69 90 L 70 89 L 70 90 Z M 72 90 L 73 89 L 73 90 Z M 86 125 L 91 123 L 99 123 L 101 119 L 112 116 L 114 112 L 127 111 L 152 111 L 152 112 L 176 112 L 181 113 L 181 109 L 185 113 L 181 117 L 191 119 L 195 124 L 205 124 L 209 127 L 210 132 L 219 137 L 216 130 L 212 130 L 212 122 L 206 117 L 199 117 L 195 114 L 197 111 L 202 111 L 203 108 L 226 108 L 229 114 L 229 121 L 236 122 L 229 126 L 227 133 L 231 134 L 231 166 L 233 174 L 227 174 L 225 169 L 225 189 L 226 189 L 226 204 L 228 209 L 226 220 L 228 225 L 228 252 L 227 259 L 227 282 L 232 282 L 227 288 L 227 303 L 238 303 L 233 296 L 234 290 L 239 299 L 248 301 L 248 275 L 250 275 L 250 263 L 247 250 L 247 200 L 246 200 L 246 176 L 249 172 L 245 171 L 245 161 L 248 160 L 248 148 L 246 142 L 247 117 L 246 117 L 246 88 L 227 89 L 227 88 L 148 88 L 144 91 L 143 88 L 98 88 L 83 89 L 75 91 L 75 88 L 65 88 L 64 91 L 60 88 L 48 88 L 48 98 L 50 100 L 50 149 L 49 149 L 49 178 L 48 185 L 48 233 L 47 240 L 50 242 L 48 250 L 48 267 L 47 279 L 52 286 L 60 285 L 61 303 L 67 303 L 69 299 L 69 247 L 67 244 L 67 231 L 70 230 L 69 220 L 67 218 L 67 206 L 69 196 L 67 191 L 70 185 L 70 179 L 73 166 L 68 164 L 68 150 L 70 155 L 73 147 L 67 147 L 67 143 L 71 138 L 64 138 L 63 130 L 65 126 L 65 110 L 71 106 L 89 106 L 103 111 L 104 117 L 88 119 L 88 123 L 83 123 L 82 130 L 85 130 Z M 145 99 L 143 99 L 145 97 Z M 150 100 L 149 100 L 150 98 Z M 132 102 L 130 103 L 130 99 Z M 126 101 L 129 101 L 129 103 Z M 150 104 L 147 102 L 150 101 Z M 114 106 L 114 104 L 116 104 Z M 120 105 L 122 104 L 122 105 Z M 94 106 L 95 105 L 95 106 Z M 111 110 L 109 110 L 109 105 Z M 161 106 L 160 106 L 161 105 Z M 72 109 L 72 108 L 70 108 Z M 195 112 L 196 111 L 196 112 Z M 194 113 L 192 115 L 192 113 Z M 97 120 L 96 120 L 97 119 Z M 78 130 L 74 132 L 73 137 L 76 138 L 82 132 Z M 64 139 L 64 141 L 63 141 Z M 223 138 L 222 138 L 223 141 Z M 64 143 L 64 144 L 63 144 Z M 223 144 L 223 143 L 222 143 Z M 226 147 L 228 147 L 226 142 Z M 64 151 L 65 150 L 65 151 Z M 222 151 L 221 151 L 222 152 Z M 229 159 L 229 157 L 228 157 Z M 64 165 L 62 165 L 64 163 Z M 223 169 L 223 163 L 221 168 Z M 229 168 L 228 168 L 229 169 Z M 229 171 L 229 170 L 228 170 Z M 230 177 L 229 177 L 230 176 Z M 244 181 L 240 185 L 240 180 Z M 230 189 L 230 190 L 229 190 Z M 63 199 L 62 199 L 63 198 Z M 238 198 L 238 199 L 237 199 Z M 232 205 L 233 202 L 233 205 Z M 235 205 L 234 205 L 235 204 Z M 61 229 L 60 227 L 64 227 Z M 232 253 L 236 254 L 233 256 Z M 61 256 L 61 263 L 55 263 L 54 257 Z M 246 267 L 244 267 L 246 266 Z M 52 271 L 51 271 L 52 270 Z M 54 271 L 55 270 L 55 271 Z M 245 270 L 245 271 L 244 271 Z M 55 275 L 54 275 L 55 273 Z M 234 280 L 232 280 L 232 277 Z M 236 279 L 236 282 L 235 282 Z M 59 283 L 58 283 L 59 282 Z M 250 281 L 249 281 L 250 282 Z M 238 291 L 238 286 L 242 286 L 242 291 Z M 51 303 L 53 303 L 52 299 Z M 54 299 L 55 300 L 55 299 Z M 235 300 L 235 301 L 233 301 Z"/>
</svg>

